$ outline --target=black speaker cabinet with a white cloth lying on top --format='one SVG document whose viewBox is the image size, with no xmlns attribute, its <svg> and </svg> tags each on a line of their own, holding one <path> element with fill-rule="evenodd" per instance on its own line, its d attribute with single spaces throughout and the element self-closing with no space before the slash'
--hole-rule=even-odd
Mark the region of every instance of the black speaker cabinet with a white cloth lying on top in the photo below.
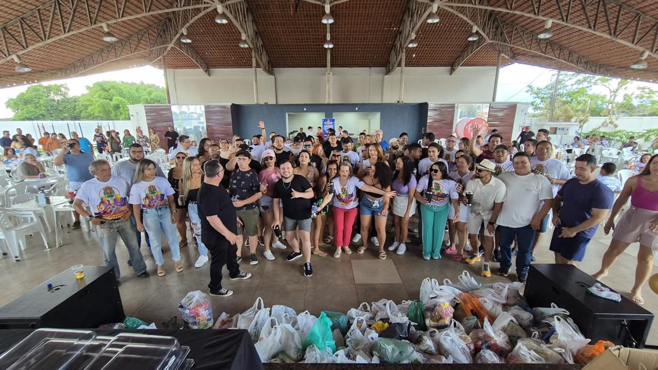
<svg viewBox="0 0 658 370">
<path fill-rule="evenodd" d="M 569 311 L 582 334 L 593 343 L 609 340 L 644 348 L 653 313 L 624 296 L 621 302 L 614 302 L 588 293 L 587 288 L 596 282 L 572 265 L 531 265 L 524 296 L 530 307 L 550 307 L 555 303 Z"/>
</svg>

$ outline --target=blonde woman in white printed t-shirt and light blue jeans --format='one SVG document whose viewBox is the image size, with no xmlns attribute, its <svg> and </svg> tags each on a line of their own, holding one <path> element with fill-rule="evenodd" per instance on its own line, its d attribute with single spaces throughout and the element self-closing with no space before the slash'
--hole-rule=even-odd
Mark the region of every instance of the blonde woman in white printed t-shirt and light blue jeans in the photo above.
<svg viewBox="0 0 658 370">
<path fill-rule="evenodd" d="M 133 214 L 139 232 L 148 232 L 151 241 L 153 259 L 158 269 L 158 276 L 164 276 L 164 258 L 161 244 L 161 233 L 169 244 L 171 257 L 174 260 L 176 272 L 183 271 L 180 263 L 180 249 L 178 248 L 178 235 L 176 234 L 176 201 L 174 201 L 174 188 L 161 176 L 156 176 L 155 162 L 142 159 L 137 164 L 135 182 L 130 188 L 128 203 L 132 204 Z M 143 210 L 143 219 L 139 209 Z"/>
</svg>

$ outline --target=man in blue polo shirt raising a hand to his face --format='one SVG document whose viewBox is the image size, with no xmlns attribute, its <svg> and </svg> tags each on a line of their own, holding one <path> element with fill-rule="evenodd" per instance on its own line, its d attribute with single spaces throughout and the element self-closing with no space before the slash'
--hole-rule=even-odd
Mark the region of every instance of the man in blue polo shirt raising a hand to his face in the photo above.
<svg viewBox="0 0 658 370">
<path fill-rule="evenodd" d="M 80 142 L 75 139 L 68 139 L 66 146 L 55 160 L 55 166 L 66 166 L 66 176 L 68 177 L 67 190 L 77 192 L 84 182 L 93 178 L 89 172 L 89 165 L 93 162 L 93 155 L 86 151 L 80 150 Z M 73 226 L 71 228 L 80 228 L 80 213 L 73 211 Z"/>
</svg>

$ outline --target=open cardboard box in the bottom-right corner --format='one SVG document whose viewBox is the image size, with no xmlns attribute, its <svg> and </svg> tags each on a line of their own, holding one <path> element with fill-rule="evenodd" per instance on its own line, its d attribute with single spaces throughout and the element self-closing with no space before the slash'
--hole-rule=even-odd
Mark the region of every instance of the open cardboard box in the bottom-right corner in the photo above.
<svg viewBox="0 0 658 370">
<path fill-rule="evenodd" d="M 617 346 L 609 348 L 582 370 L 657 370 L 658 351 Z"/>
</svg>

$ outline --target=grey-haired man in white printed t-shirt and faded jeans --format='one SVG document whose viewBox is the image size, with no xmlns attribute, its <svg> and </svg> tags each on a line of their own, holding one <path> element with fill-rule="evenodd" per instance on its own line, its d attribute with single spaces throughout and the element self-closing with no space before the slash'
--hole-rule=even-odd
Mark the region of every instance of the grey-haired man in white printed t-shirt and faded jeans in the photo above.
<svg viewBox="0 0 658 370">
<path fill-rule="evenodd" d="M 130 185 L 124 178 L 112 176 L 110 164 L 104 159 L 91 162 L 89 172 L 94 178 L 80 186 L 73 208 L 93 225 L 103 249 L 103 264 L 113 267 L 116 280 L 119 280 L 121 273 L 114 250 L 116 237 L 120 236 L 130 253 L 135 274 L 141 278 L 149 277 L 144 259 L 139 253 L 135 226 L 130 222 Z M 84 207 L 85 204 L 89 205 L 89 209 Z"/>
</svg>

